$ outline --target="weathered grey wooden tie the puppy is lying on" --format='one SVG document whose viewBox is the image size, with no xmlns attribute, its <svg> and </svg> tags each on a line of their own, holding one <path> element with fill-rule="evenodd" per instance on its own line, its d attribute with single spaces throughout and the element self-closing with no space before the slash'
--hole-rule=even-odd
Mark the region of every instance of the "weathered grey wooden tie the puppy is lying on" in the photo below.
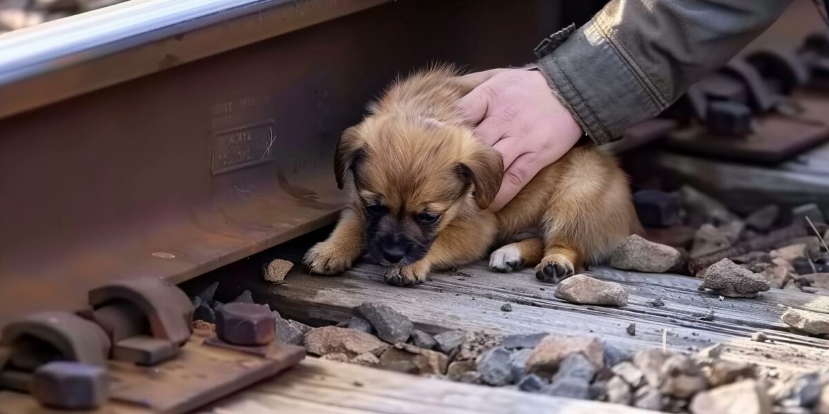
<svg viewBox="0 0 829 414">
<path fill-rule="evenodd" d="M 296 253 L 284 258 L 298 261 Z M 800 309 L 826 311 L 829 298 L 795 291 L 772 290 L 758 299 L 729 299 L 696 290 L 693 277 L 620 272 L 596 268 L 592 273 L 620 282 L 630 295 L 623 308 L 581 306 L 556 299 L 555 286 L 538 282 L 530 270 L 508 274 L 489 272 L 483 263 L 460 269 L 469 276 L 436 273 L 432 280 L 414 288 L 388 286 L 382 282 L 381 267 L 360 264 L 342 277 L 304 273 L 297 267 L 288 283 L 269 286 L 255 279 L 237 280 L 240 287 L 259 292 L 288 317 L 300 320 L 346 320 L 352 306 L 379 301 L 409 315 L 421 329 L 494 330 L 504 333 L 554 332 L 597 335 L 623 349 L 667 346 L 674 350 L 700 349 L 726 344 L 725 358 L 757 363 L 783 372 L 802 372 L 829 363 L 829 341 L 788 332 L 779 317 L 778 304 Z M 543 289 L 543 290 L 542 290 Z M 649 303 L 662 297 L 664 307 Z M 503 303 L 512 312 L 502 312 Z M 712 309 L 715 320 L 698 318 Z M 637 335 L 625 328 L 637 324 Z M 750 335 L 763 330 L 773 343 L 751 341 Z"/>
</svg>

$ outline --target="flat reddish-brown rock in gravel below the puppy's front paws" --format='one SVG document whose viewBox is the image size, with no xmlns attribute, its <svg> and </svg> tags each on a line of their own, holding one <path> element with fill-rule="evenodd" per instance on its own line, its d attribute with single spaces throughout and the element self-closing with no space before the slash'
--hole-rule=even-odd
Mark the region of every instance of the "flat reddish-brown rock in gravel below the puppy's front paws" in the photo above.
<svg viewBox="0 0 829 414">
<path fill-rule="evenodd" d="M 355 357 L 366 352 L 380 355 L 387 348 L 389 344 L 374 335 L 336 326 L 314 328 L 305 334 L 305 349 L 316 355 L 347 354 Z"/>
</svg>

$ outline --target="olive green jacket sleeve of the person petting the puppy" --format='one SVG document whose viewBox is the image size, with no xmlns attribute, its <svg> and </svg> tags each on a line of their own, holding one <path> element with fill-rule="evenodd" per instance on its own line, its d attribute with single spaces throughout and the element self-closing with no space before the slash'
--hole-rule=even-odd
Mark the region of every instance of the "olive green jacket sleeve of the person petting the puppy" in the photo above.
<svg viewBox="0 0 829 414">
<path fill-rule="evenodd" d="M 603 144 L 662 112 L 789 3 L 613 0 L 579 29 L 542 41 L 536 65 L 584 132 Z"/>
</svg>

